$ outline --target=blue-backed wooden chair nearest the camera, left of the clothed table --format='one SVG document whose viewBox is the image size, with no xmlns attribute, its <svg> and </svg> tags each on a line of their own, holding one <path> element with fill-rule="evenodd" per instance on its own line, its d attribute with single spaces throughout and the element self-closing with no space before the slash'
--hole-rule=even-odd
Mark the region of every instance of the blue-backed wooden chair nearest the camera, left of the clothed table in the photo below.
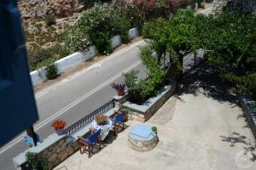
<svg viewBox="0 0 256 170">
<path fill-rule="evenodd" d="M 91 134 L 87 139 L 83 137 L 79 137 L 79 146 L 80 146 L 80 153 L 83 154 L 84 152 L 91 156 L 92 150 L 94 148 L 101 150 L 102 149 L 102 141 L 100 140 L 101 137 L 101 129 L 96 131 L 96 133 Z"/>
</svg>

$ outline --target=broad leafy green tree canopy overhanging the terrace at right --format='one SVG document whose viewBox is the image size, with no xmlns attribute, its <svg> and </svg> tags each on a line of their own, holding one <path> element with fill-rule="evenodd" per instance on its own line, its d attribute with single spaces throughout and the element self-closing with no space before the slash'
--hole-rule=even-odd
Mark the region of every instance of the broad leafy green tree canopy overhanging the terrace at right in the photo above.
<svg viewBox="0 0 256 170">
<path fill-rule="evenodd" d="M 171 20 L 153 20 L 143 36 L 156 52 L 158 62 L 166 51 L 183 71 L 183 54 L 207 50 L 207 63 L 217 68 L 220 77 L 233 82 L 239 90 L 256 95 L 256 14 L 224 13 L 218 17 L 178 10 Z"/>
</svg>

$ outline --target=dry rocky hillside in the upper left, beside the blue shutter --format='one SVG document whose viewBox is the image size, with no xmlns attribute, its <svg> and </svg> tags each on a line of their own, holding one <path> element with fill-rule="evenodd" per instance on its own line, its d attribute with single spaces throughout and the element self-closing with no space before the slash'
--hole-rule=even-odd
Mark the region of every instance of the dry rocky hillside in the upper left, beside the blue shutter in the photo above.
<svg viewBox="0 0 256 170">
<path fill-rule="evenodd" d="M 73 26 L 84 9 L 79 0 L 20 0 L 18 2 L 24 34 L 26 49 L 31 70 L 36 69 L 38 51 L 41 49 L 55 48 L 63 51 L 64 32 Z M 63 56 L 57 56 L 61 58 Z"/>
</svg>

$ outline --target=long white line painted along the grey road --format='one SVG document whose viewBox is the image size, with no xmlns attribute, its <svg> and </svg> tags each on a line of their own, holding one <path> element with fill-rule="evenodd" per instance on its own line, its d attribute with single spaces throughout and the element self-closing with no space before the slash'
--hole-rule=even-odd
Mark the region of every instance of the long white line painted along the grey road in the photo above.
<svg viewBox="0 0 256 170">
<path fill-rule="evenodd" d="M 43 122 L 38 123 L 34 129 L 37 131 L 41 127 L 44 127 L 47 123 L 53 121 L 57 116 L 61 116 L 63 113 L 71 109 L 73 106 L 78 105 L 81 101 L 84 99 L 88 98 L 91 94 L 96 93 L 96 91 L 104 88 L 107 86 L 110 82 L 113 82 L 113 80 L 117 79 L 118 77 L 121 77 L 123 73 L 130 71 L 132 68 L 136 67 L 137 65 L 140 65 L 142 61 L 138 60 L 136 63 L 132 64 L 131 66 L 127 67 L 125 70 L 121 71 L 121 73 L 109 78 L 106 82 L 102 82 L 102 84 L 98 85 L 96 88 L 90 90 L 87 94 L 84 94 L 81 96 L 79 99 L 74 100 L 71 104 L 67 105 L 66 107 L 62 108 L 60 111 L 57 111 L 54 115 L 49 116 L 47 119 L 45 119 Z M 23 136 L 26 135 L 26 133 L 21 133 L 20 136 L 17 138 L 13 139 L 9 144 L 6 144 L 3 146 L 0 150 L 0 154 L 3 154 L 4 151 L 9 150 L 9 148 L 13 147 L 15 144 L 19 143 L 22 139 Z"/>
</svg>

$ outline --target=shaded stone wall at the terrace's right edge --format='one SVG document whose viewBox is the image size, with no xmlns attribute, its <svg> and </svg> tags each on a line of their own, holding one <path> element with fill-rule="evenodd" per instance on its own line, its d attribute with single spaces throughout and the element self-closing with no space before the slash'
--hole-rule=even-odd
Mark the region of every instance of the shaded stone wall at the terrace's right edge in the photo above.
<svg viewBox="0 0 256 170">
<path fill-rule="evenodd" d="M 254 138 L 256 139 L 256 105 L 253 99 L 243 95 L 238 96 L 238 101 L 244 115 L 247 118 L 247 123 L 252 129 Z"/>
</svg>

